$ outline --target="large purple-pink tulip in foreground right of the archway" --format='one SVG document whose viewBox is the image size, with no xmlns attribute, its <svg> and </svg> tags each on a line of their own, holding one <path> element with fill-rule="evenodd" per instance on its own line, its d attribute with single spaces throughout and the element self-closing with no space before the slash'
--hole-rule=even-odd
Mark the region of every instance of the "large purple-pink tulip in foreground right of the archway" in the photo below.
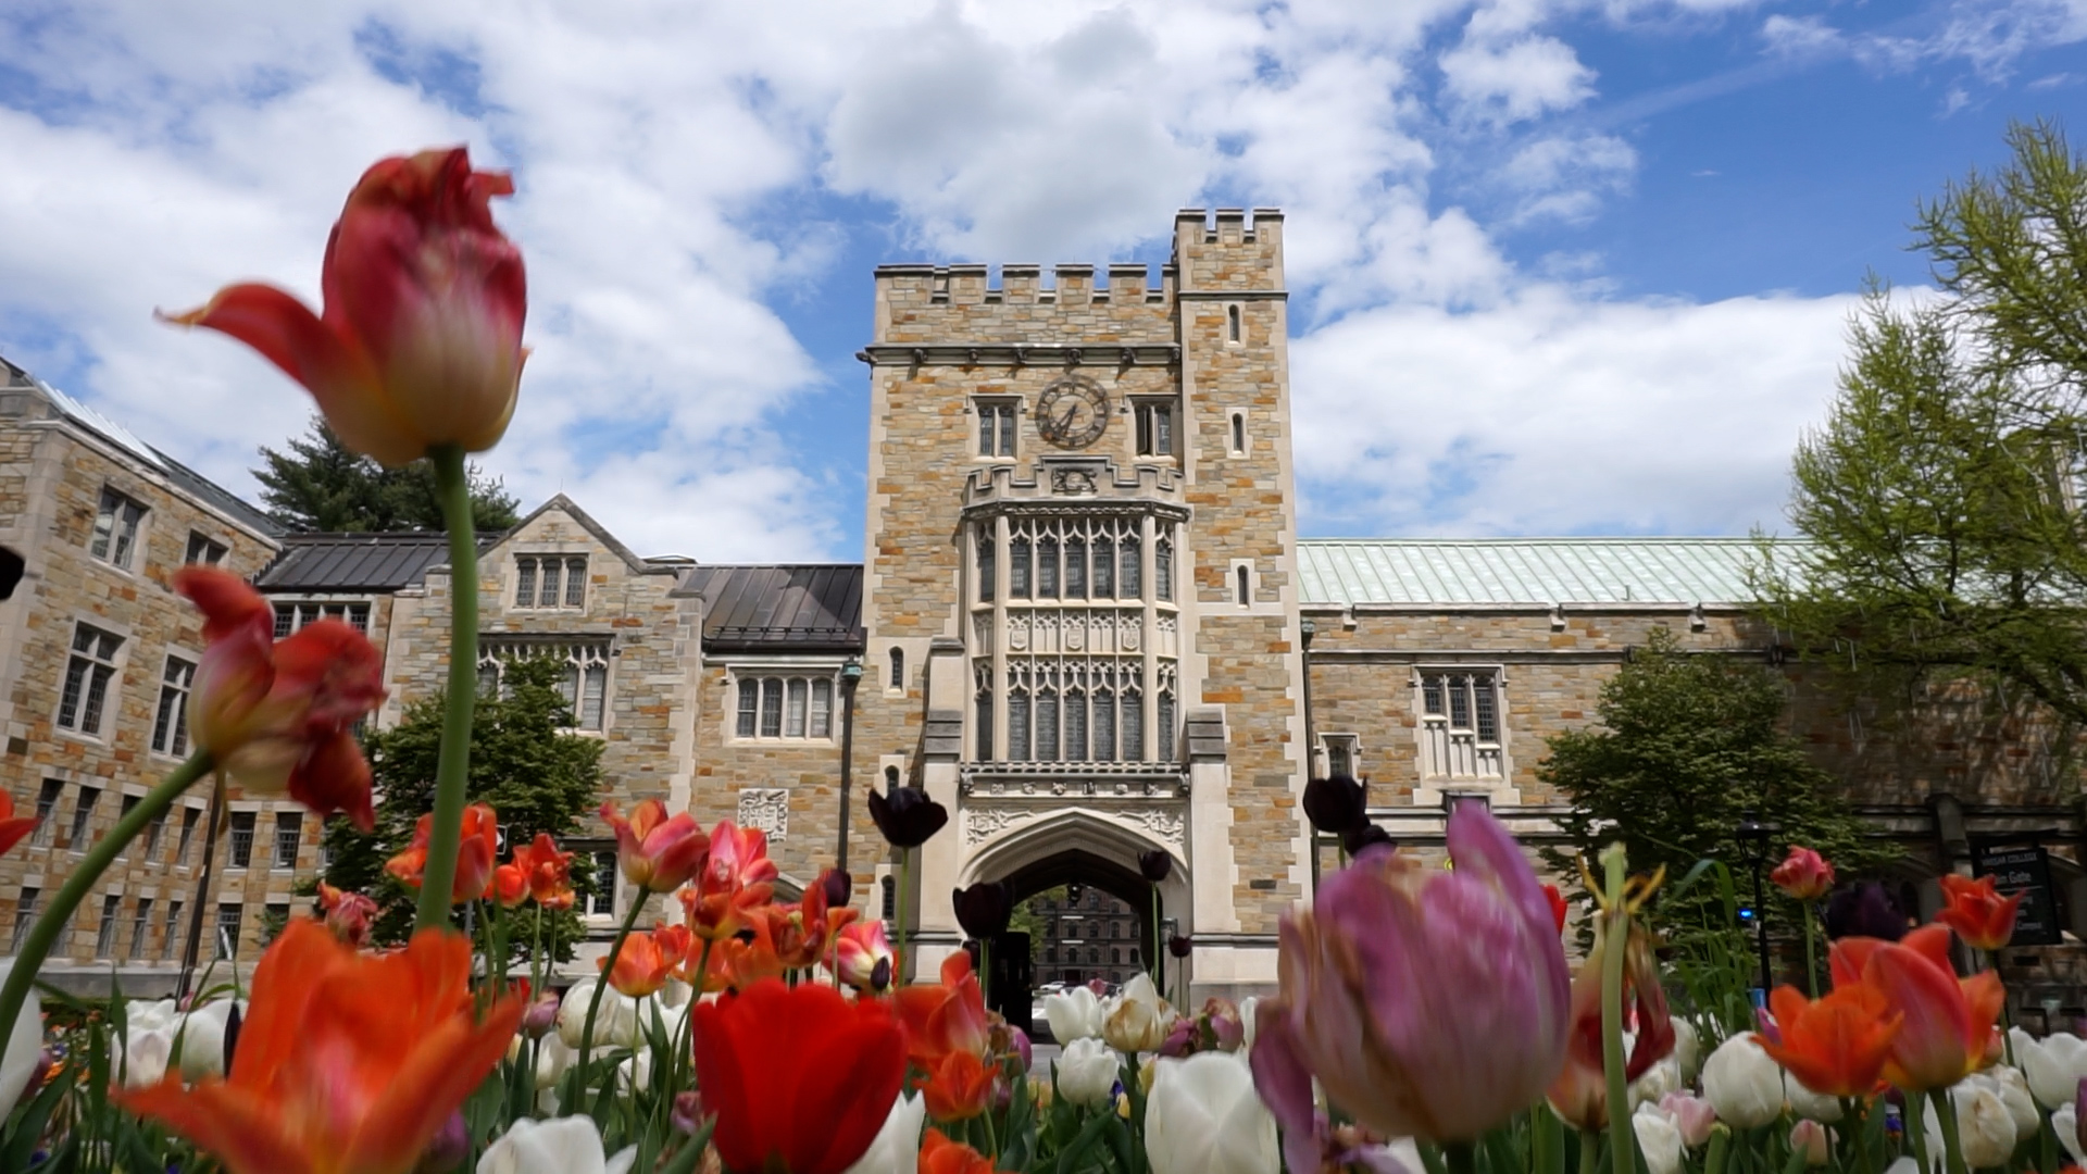
<svg viewBox="0 0 2087 1174">
<path fill-rule="evenodd" d="M 1448 817 L 1448 854 L 1455 871 L 1430 871 L 1369 848 L 1311 913 L 1284 917 L 1281 994 L 1256 1007 L 1252 1065 L 1294 1136 L 1313 1132 L 1311 1078 L 1371 1132 L 1463 1143 L 1563 1065 L 1565 950 L 1536 873 L 1471 804 Z"/>
</svg>

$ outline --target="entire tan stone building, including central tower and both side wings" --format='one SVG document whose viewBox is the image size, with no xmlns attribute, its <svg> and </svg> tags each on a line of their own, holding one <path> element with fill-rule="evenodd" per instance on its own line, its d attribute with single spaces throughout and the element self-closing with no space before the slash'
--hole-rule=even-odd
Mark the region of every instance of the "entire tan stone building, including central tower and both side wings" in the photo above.
<svg viewBox="0 0 2087 1174">
<path fill-rule="evenodd" d="M 998 280 L 985 265 L 879 267 L 860 353 L 862 564 L 643 558 L 553 497 L 482 541 L 484 683 L 513 656 L 566 658 L 574 727 L 603 742 L 603 798 L 766 829 L 787 894 L 841 863 L 858 902 L 904 915 L 929 971 L 962 946 L 952 890 L 1004 879 L 1023 900 L 1079 884 L 1135 923 L 1121 969 L 1039 953 L 1035 978 L 1129 973 L 1154 934 L 1142 865 L 1165 861 L 1158 930 L 1192 938 L 1200 999 L 1275 982 L 1277 917 L 1332 861 L 1300 811 L 1315 773 L 1369 775 L 1373 819 L 1421 850 L 1459 800 L 1540 842 L 1563 811 L 1536 777 L 1546 739 L 1594 721 L 1601 685 L 1655 629 L 1786 662 L 1749 620 L 1745 539 L 1300 539 L 1281 234 L 1269 209 L 1192 209 L 1158 267 L 1058 265 L 1048 282 L 1037 265 Z M 0 859 L 0 932 L 15 886 L 63 875 L 79 788 L 121 794 L 150 765 L 163 660 L 196 648 L 161 585 L 179 535 L 207 531 L 227 566 L 259 572 L 280 631 L 361 618 L 386 656 L 386 725 L 442 685 L 455 591 L 432 535 L 271 535 L 165 455 L 31 391 L 0 393 L 0 485 L 19 503 L 0 543 L 27 566 L 0 604 L 4 769 L 21 804 L 52 779 L 58 792 L 50 842 Z M 134 570 L 94 556 L 109 489 L 150 518 Z M 56 729 L 61 645 L 81 623 L 121 637 L 121 704 L 98 739 Z M 1789 673 L 1795 729 L 1905 850 L 1893 879 L 1908 902 L 1930 909 L 1937 873 L 1983 867 L 1995 846 L 2037 852 L 2064 944 L 2004 963 L 2024 1003 L 2087 1003 L 2072 746 L 1991 698 L 1916 698 L 1893 723 Z M 866 806 L 895 785 L 952 813 L 910 861 Z M 86 833 L 113 811 L 90 804 Z M 269 840 L 278 808 L 234 813 L 253 815 L 236 825 L 253 844 L 290 844 Z M 574 846 L 609 842 L 591 821 Z M 225 873 L 236 896 L 213 907 L 282 905 L 315 850 L 311 827 L 284 856 L 294 867 Z M 161 902 L 146 921 L 161 917 L 184 867 L 113 879 L 117 919 L 138 917 L 138 896 Z M 626 898 L 591 909 L 603 936 Z M 102 957 L 98 911 L 69 965 Z M 111 948 L 129 942 L 121 930 Z M 159 948 L 150 930 L 144 942 Z M 1081 959 L 1089 946 L 1050 944 Z"/>
</svg>

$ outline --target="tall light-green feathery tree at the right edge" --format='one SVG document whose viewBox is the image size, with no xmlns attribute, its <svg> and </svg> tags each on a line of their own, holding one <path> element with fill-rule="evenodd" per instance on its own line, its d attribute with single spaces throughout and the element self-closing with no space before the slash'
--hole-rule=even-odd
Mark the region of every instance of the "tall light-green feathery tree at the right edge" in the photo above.
<svg viewBox="0 0 2087 1174">
<path fill-rule="evenodd" d="M 1795 457 L 1764 618 L 1868 702 L 1983 685 L 2087 723 L 2087 157 L 2052 123 L 1920 207 L 1941 297 L 1872 295 Z M 1885 717 L 1903 706 L 1887 706 Z M 2064 742 L 2064 739 L 2060 739 Z"/>
</svg>

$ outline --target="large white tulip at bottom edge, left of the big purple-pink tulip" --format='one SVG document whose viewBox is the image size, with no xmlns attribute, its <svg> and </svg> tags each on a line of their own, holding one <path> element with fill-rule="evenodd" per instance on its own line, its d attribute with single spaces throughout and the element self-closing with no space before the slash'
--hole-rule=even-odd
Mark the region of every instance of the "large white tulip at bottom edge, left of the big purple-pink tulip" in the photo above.
<svg viewBox="0 0 2087 1174">
<path fill-rule="evenodd" d="M 1162 1059 L 1146 1097 L 1152 1174 L 1277 1174 L 1275 1118 L 1238 1055 Z"/>
</svg>

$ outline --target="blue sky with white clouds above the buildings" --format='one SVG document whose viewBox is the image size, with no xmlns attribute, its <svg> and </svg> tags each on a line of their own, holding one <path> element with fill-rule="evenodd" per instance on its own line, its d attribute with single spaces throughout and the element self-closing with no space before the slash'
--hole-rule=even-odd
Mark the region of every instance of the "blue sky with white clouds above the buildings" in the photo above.
<svg viewBox="0 0 2087 1174">
<path fill-rule="evenodd" d="M 1774 529 L 1916 198 L 2087 144 L 2087 0 L 167 8 L 0 13 L 0 353 L 250 491 L 301 393 L 150 309 L 315 297 L 361 167 L 467 142 L 536 345 L 486 466 L 705 560 L 860 558 L 872 265 L 1181 205 L 1288 213 L 1306 535 Z"/>
</svg>

